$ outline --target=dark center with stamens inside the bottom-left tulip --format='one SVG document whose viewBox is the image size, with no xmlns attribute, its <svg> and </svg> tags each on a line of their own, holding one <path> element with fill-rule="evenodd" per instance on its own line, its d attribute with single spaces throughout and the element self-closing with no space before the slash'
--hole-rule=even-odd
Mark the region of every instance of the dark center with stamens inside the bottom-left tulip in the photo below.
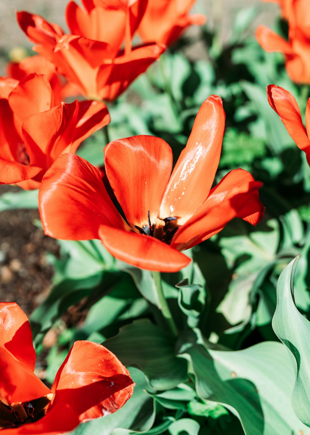
<svg viewBox="0 0 310 435">
<path fill-rule="evenodd" d="M 0 430 L 40 420 L 46 414 L 52 398 L 53 393 L 49 393 L 30 402 L 15 402 L 10 405 L 2 398 L 0 400 Z"/>
</svg>

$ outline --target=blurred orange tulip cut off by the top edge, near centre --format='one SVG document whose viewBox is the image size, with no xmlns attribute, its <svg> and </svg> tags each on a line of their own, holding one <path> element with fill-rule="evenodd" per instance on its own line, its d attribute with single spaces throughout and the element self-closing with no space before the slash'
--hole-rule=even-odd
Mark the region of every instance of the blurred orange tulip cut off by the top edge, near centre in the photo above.
<svg viewBox="0 0 310 435">
<path fill-rule="evenodd" d="M 188 26 L 202 26 L 206 21 L 204 15 L 188 15 L 195 1 L 148 0 L 146 12 L 138 29 L 142 40 L 171 45 Z"/>
</svg>

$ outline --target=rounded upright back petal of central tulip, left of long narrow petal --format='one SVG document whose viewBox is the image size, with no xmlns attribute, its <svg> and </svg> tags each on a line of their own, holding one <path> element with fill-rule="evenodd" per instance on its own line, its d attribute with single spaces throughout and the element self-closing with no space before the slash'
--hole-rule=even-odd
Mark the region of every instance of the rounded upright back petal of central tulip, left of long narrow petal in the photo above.
<svg viewBox="0 0 310 435">
<path fill-rule="evenodd" d="M 104 155 L 107 177 L 129 225 L 147 225 L 148 211 L 153 224 L 172 169 L 167 142 L 154 136 L 127 137 L 110 142 Z"/>
</svg>

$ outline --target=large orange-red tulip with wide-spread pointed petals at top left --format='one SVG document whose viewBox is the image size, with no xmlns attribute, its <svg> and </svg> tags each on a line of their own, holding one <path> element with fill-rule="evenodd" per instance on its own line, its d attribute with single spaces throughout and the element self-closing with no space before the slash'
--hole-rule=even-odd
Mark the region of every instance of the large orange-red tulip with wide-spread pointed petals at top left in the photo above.
<svg viewBox="0 0 310 435">
<path fill-rule="evenodd" d="M 147 0 L 84 0 L 84 10 L 70 1 L 66 20 L 71 35 L 39 15 L 18 12 L 17 20 L 36 43 L 34 50 L 53 62 L 82 95 L 111 101 L 165 50 L 155 43 L 132 48 L 146 4 Z"/>
</svg>

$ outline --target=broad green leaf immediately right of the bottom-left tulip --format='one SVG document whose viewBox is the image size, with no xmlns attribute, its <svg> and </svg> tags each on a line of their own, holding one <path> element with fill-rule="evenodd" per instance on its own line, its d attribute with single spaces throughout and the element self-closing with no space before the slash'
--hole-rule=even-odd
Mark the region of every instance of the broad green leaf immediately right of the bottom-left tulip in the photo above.
<svg viewBox="0 0 310 435">
<path fill-rule="evenodd" d="M 152 427 L 155 420 L 154 400 L 145 392 L 150 387 L 141 370 L 129 367 L 129 372 L 135 388 L 125 405 L 113 414 L 79 425 L 71 432 L 72 435 L 125 435 L 145 432 Z"/>
</svg>

